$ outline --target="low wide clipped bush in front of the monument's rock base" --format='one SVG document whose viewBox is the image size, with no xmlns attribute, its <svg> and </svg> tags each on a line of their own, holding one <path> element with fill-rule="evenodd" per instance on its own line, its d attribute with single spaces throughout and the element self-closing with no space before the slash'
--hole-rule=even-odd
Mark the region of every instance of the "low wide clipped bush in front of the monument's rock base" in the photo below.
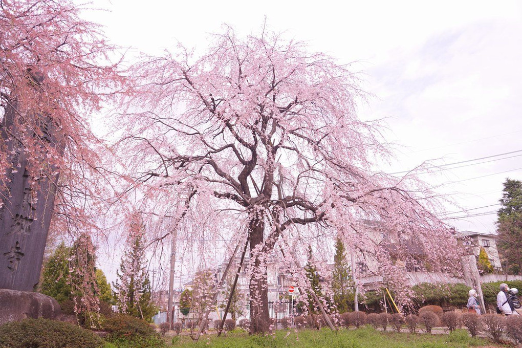
<svg viewBox="0 0 522 348">
<path fill-rule="evenodd" d="M 68 322 L 25 319 L 0 326 L 4 348 L 101 348 L 104 342 L 89 330 Z"/>
</svg>

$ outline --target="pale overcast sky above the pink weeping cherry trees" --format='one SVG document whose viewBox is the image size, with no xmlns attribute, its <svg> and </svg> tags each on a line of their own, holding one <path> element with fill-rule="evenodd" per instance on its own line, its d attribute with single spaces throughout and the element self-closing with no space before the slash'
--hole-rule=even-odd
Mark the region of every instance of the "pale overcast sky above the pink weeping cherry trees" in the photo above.
<svg viewBox="0 0 522 348">
<path fill-rule="evenodd" d="M 388 140 L 403 146 L 388 172 L 522 150 L 522 1 L 96 0 L 93 7 L 108 10 L 88 18 L 104 25 L 113 43 L 149 54 L 177 41 L 204 51 L 222 23 L 248 34 L 266 16 L 272 30 L 313 51 L 359 61 L 363 87 L 375 95 L 361 116 L 390 117 Z M 467 164 L 425 179 L 458 182 L 441 192 L 470 214 L 495 212 L 505 178 L 522 179 L 522 151 L 460 165 Z M 494 232 L 495 219 L 450 222 L 457 230 Z"/>
</svg>

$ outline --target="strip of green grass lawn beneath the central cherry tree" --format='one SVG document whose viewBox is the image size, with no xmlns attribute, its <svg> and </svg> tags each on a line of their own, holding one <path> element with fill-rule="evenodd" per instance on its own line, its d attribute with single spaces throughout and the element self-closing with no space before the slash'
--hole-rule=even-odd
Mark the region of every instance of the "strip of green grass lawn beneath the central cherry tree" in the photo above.
<svg viewBox="0 0 522 348">
<path fill-rule="evenodd" d="M 194 343 L 191 338 L 174 338 L 173 346 L 180 348 L 189 347 L 216 347 L 216 348 L 443 348 L 443 347 L 494 347 L 491 342 L 480 338 L 471 338 L 466 330 L 456 330 L 450 334 L 425 334 L 425 333 L 394 333 L 377 331 L 371 327 L 357 330 L 341 329 L 337 333 L 329 329 L 280 330 L 267 337 L 252 336 L 247 333 L 229 333 L 228 337 L 217 338 L 215 335 L 205 335 L 199 342 Z M 170 342 L 169 342 L 170 343 Z"/>
</svg>

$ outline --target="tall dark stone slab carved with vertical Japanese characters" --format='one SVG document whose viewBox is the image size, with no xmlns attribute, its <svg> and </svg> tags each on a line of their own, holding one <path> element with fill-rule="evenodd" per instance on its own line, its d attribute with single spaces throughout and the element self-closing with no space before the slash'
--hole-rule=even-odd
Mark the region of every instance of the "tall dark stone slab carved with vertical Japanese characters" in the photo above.
<svg viewBox="0 0 522 348">
<path fill-rule="evenodd" d="M 15 116 L 16 102 L 13 104 L 6 108 L 0 131 L 0 149 L 9 154 L 11 163 L 6 189 L 0 192 L 0 289 L 33 291 L 40 278 L 58 175 L 31 177 L 28 154 L 18 139 L 22 117 Z M 53 148 L 62 148 L 54 136 L 52 119 L 40 117 L 38 124 L 43 139 Z"/>
</svg>

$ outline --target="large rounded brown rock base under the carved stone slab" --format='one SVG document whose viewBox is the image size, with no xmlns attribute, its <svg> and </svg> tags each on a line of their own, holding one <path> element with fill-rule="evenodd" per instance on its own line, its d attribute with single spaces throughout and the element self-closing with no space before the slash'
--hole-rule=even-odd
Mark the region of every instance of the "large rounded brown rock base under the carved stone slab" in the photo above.
<svg viewBox="0 0 522 348">
<path fill-rule="evenodd" d="M 0 325 L 26 318 L 61 319 L 62 309 L 56 300 L 30 291 L 0 289 Z"/>
</svg>

